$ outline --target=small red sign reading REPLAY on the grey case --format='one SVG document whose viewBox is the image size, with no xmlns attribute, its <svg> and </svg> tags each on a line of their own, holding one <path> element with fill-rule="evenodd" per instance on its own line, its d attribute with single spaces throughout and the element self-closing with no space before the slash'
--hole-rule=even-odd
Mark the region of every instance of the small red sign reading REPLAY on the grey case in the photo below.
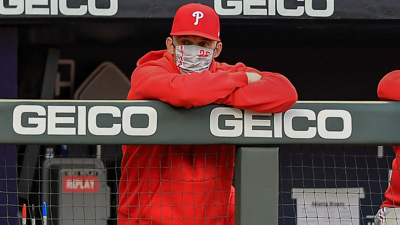
<svg viewBox="0 0 400 225">
<path fill-rule="evenodd" d="M 65 176 L 62 179 L 64 193 L 97 193 L 99 183 L 96 176 Z"/>
</svg>

